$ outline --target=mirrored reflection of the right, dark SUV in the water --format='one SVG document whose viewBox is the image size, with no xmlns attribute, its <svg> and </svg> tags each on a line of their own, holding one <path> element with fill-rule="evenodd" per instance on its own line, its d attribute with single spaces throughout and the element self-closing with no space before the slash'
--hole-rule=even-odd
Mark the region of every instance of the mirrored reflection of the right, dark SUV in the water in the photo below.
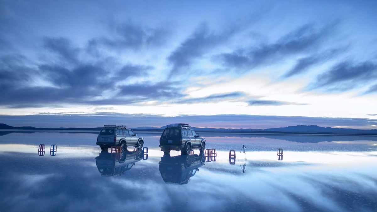
<svg viewBox="0 0 377 212">
<path fill-rule="evenodd" d="M 165 183 L 187 184 L 190 177 L 194 176 L 199 167 L 205 164 L 204 154 L 178 155 L 170 157 L 164 154 L 159 161 L 159 171 Z"/>
</svg>

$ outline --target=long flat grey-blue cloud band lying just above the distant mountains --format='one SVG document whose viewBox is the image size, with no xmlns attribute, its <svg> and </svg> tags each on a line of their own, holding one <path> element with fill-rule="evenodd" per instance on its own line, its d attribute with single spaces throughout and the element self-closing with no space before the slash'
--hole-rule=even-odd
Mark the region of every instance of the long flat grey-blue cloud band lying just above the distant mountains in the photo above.
<svg viewBox="0 0 377 212">
<path fill-rule="evenodd" d="M 54 123 L 51 123 L 51 119 Z M 267 129 L 296 125 L 317 125 L 354 129 L 375 129 L 377 120 L 372 118 L 326 118 L 326 117 L 287 117 L 276 115 L 177 115 L 167 117 L 151 114 L 123 114 L 95 112 L 90 114 L 43 114 L 43 115 L 0 115 L 3 123 L 11 126 L 34 127 L 101 127 L 103 123 L 124 123 L 127 126 L 153 127 L 167 123 L 189 123 L 195 127 L 251 128 Z"/>
</svg>

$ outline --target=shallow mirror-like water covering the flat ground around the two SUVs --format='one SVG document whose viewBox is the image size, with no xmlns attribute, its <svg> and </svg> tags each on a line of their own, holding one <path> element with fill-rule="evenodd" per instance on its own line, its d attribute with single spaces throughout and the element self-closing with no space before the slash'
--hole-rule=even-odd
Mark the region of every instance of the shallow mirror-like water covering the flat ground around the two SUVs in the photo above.
<svg viewBox="0 0 377 212">
<path fill-rule="evenodd" d="M 2 132 L 0 211 L 377 211 L 376 137 L 201 133 L 216 155 L 181 156 L 138 134 L 148 155 L 101 151 L 93 133 Z"/>
</svg>

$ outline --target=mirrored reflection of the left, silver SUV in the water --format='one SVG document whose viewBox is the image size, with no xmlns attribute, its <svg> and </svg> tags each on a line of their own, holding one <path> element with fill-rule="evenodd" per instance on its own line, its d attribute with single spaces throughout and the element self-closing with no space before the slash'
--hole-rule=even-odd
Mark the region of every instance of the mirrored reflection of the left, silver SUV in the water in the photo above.
<svg viewBox="0 0 377 212">
<path fill-rule="evenodd" d="M 102 176 L 116 177 L 130 170 L 142 158 L 143 151 L 140 148 L 136 151 L 126 149 L 118 153 L 101 151 L 100 155 L 95 158 L 95 163 Z"/>
</svg>

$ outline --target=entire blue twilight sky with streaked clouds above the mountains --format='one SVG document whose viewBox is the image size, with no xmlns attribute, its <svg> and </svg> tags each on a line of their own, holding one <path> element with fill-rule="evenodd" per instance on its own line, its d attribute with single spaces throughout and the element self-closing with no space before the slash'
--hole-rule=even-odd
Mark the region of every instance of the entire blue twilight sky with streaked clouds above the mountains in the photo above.
<svg viewBox="0 0 377 212">
<path fill-rule="evenodd" d="M 0 0 L 0 123 L 376 129 L 376 8 Z"/>
</svg>

